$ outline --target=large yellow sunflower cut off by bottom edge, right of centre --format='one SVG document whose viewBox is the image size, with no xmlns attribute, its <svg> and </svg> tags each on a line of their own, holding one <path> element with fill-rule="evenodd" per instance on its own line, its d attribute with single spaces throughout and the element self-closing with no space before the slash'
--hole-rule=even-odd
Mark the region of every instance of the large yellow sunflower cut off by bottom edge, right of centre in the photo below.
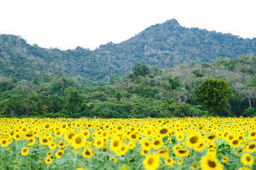
<svg viewBox="0 0 256 170">
<path fill-rule="evenodd" d="M 212 155 L 206 155 L 202 157 L 200 161 L 202 170 L 222 170 L 223 167 L 218 162 L 216 157 L 212 157 Z"/>
</svg>

